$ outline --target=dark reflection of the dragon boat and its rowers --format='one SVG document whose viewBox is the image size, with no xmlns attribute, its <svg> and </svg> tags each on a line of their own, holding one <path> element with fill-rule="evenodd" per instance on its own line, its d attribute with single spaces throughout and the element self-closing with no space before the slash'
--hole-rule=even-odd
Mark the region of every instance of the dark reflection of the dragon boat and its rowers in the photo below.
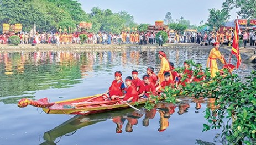
<svg viewBox="0 0 256 145">
<path fill-rule="evenodd" d="M 204 102 L 206 100 L 203 100 Z M 112 120 L 116 126 L 113 126 L 113 131 L 115 130 L 116 133 L 123 133 L 123 128 L 125 126 L 126 132 L 133 132 L 134 125 L 148 127 L 149 126 L 149 120 L 154 120 L 155 116 L 159 115 L 159 128 L 153 127 L 154 125 L 151 125 L 151 128 L 155 128 L 159 132 L 164 132 L 169 127 L 169 118 L 171 118 L 171 115 L 175 114 L 175 108 L 179 108 L 179 111 L 177 112 L 179 115 L 181 115 L 180 110 L 182 110 L 182 114 L 186 113 L 187 108 L 189 108 L 188 103 L 180 103 L 180 104 L 171 104 L 171 103 L 159 103 L 156 105 L 156 108 L 147 111 L 134 111 L 133 109 L 124 109 L 119 111 L 112 111 L 107 113 L 101 113 L 101 114 L 92 114 L 92 115 L 76 115 L 70 120 L 67 120 L 66 122 L 62 123 L 61 125 L 55 127 L 54 129 L 47 131 L 44 133 L 44 143 L 41 144 L 55 144 L 56 142 L 61 142 L 61 137 L 64 135 L 72 135 L 74 133 L 77 133 L 76 130 L 81 129 L 82 127 L 90 126 L 93 124 L 97 124 L 98 122 Z M 138 119 L 143 118 L 142 122 L 139 122 Z M 109 122 L 111 123 L 111 122 Z M 175 126 L 175 124 L 174 124 Z M 106 129 L 108 127 L 106 126 Z M 112 128 L 111 128 L 112 129 Z M 136 127 L 137 130 L 140 130 L 139 127 Z M 201 140 L 196 140 L 197 144 L 203 143 Z"/>
</svg>

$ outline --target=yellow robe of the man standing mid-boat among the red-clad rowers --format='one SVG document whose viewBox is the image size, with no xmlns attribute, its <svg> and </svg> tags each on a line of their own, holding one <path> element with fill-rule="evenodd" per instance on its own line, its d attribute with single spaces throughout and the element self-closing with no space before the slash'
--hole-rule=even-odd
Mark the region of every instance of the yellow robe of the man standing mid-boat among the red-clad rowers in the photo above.
<svg viewBox="0 0 256 145">
<path fill-rule="evenodd" d="M 170 72 L 171 74 L 169 62 L 165 57 L 163 57 L 161 59 L 161 69 L 158 72 L 159 85 L 161 85 L 161 83 L 164 81 L 165 72 Z M 170 79 L 173 80 L 173 75 L 170 76 Z"/>
</svg>

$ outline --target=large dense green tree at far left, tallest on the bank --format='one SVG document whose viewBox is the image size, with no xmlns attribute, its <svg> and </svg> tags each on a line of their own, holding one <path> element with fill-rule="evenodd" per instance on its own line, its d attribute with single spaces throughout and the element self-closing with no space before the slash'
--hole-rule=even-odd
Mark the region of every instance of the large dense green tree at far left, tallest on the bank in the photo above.
<svg viewBox="0 0 256 145">
<path fill-rule="evenodd" d="M 39 31 L 74 28 L 87 17 L 81 4 L 72 0 L 0 1 L 0 23 L 21 23 L 23 31 L 30 31 L 34 23 Z"/>
</svg>

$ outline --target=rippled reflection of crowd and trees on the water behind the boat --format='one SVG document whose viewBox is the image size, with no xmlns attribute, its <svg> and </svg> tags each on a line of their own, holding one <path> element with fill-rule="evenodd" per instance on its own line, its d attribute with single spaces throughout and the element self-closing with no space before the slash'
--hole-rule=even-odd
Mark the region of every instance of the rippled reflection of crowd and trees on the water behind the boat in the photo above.
<svg viewBox="0 0 256 145">
<path fill-rule="evenodd" d="M 207 49 L 163 49 L 175 66 L 186 59 L 194 59 L 206 66 Z M 0 53 L 0 101 L 17 103 L 23 97 L 33 98 L 35 91 L 50 88 L 73 87 L 87 77 L 106 76 L 114 71 L 132 71 L 140 74 L 148 66 L 159 70 L 158 49 L 124 49 L 121 51 L 38 51 Z M 224 54 L 224 52 L 223 52 Z M 227 54 L 226 54 L 227 55 Z M 234 62 L 233 62 L 234 63 Z M 242 64 L 241 73 L 251 66 Z M 95 83 L 102 83 L 95 81 Z M 7 101 L 8 99 L 8 101 Z M 185 111 L 185 110 L 181 110 Z"/>
</svg>

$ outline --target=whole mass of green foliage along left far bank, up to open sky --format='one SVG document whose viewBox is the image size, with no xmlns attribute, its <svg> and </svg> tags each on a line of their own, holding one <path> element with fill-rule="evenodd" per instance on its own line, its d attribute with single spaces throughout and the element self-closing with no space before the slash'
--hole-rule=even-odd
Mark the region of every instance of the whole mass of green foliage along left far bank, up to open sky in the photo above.
<svg viewBox="0 0 256 145">
<path fill-rule="evenodd" d="M 86 14 L 76 0 L 0 0 L 0 20 L 0 25 L 21 23 L 23 31 L 30 31 L 35 23 L 40 32 L 59 31 L 59 28 L 78 31 L 81 21 L 91 22 L 93 32 L 119 33 L 125 27 L 137 27 L 128 12 L 113 13 L 110 9 L 94 7 Z"/>
</svg>

